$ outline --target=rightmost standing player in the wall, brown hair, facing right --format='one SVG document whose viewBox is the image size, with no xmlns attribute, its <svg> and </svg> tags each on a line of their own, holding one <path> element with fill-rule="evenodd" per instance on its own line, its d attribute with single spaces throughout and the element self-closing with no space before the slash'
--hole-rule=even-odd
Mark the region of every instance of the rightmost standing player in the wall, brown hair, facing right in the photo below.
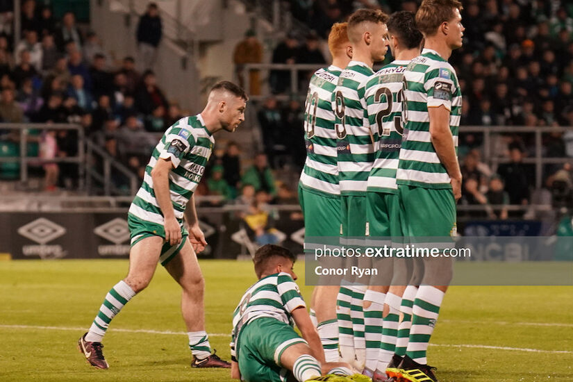
<svg viewBox="0 0 573 382">
<path fill-rule="evenodd" d="M 462 46 L 461 9 L 458 0 L 422 1 L 416 24 L 424 35 L 424 50 L 404 72 L 406 124 L 396 175 L 404 235 L 426 244 L 439 238 L 431 246 L 440 248 L 453 245 L 456 201 L 461 197 L 457 146 L 462 94 L 454 67 L 447 62 L 451 51 Z M 436 381 L 426 350 L 452 270 L 449 258 L 424 259 L 399 380 Z"/>
</svg>

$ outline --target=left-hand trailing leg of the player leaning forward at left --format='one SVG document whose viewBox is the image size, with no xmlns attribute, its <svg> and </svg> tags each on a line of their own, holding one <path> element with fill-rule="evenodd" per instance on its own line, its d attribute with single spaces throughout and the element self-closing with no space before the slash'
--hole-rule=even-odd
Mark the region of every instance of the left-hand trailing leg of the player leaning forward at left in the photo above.
<svg viewBox="0 0 573 382">
<path fill-rule="evenodd" d="M 131 247 L 128 275 L 106 294 L 90 330 L 78 341 L 80 350 L 91 365 L 100 369 L 108 368 L 108 363 L 101 352 L 103 335 L 106 334 L 113 317 L 136 293 L 149 285 L 162 246 L 163 238 L 153 235 L 142 238 Z"/>
</svg>

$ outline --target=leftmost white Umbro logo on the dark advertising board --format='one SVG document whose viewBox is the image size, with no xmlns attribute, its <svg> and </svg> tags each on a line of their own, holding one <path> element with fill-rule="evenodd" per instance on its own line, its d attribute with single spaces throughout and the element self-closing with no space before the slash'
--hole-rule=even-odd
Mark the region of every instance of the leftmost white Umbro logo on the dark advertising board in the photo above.
<svg viewBox="0 0 573 382">
<path fill-rule="evenodd" d="M 66 229 L 59 224 L 40 217 L 18 229 L 18 233 L 24 238 L 28 238 L 39 245 L 24 245 L 22 253 L 24 256 L 40 256 L 40 258 L 63 258 L 67 252 L 61 245 L 47 243 L 65 235 Z"/>
</svg>

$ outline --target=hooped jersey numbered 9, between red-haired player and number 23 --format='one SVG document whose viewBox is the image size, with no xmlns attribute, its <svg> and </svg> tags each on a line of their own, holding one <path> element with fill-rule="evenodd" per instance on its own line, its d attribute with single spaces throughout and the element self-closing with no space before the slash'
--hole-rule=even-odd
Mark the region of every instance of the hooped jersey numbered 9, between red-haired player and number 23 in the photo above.
<svg viewBox="0 0 573 382">
<path fill-rule="evenodd" d="M 372 68 L 365 63 L 350 61 L 340 74 L 338 86 L 333 93 L 338 137 L 338 183 L 342 195 L 365 194 L 374 162 L 364 99 L 364 85 L 372 74 Z"/>
</svg>

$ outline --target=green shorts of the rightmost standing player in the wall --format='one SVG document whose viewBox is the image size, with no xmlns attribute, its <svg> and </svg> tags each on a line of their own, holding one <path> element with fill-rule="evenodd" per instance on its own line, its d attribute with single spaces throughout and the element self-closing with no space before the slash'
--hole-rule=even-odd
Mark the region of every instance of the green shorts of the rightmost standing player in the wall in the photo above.
<svg viewBox="0 0 573 382">
<path fill-rule="evenodd" d="M 451 238 L 456 235 L 456 201 L 449 188 L 399 185 L 404 236 Z"/>
</svg>

